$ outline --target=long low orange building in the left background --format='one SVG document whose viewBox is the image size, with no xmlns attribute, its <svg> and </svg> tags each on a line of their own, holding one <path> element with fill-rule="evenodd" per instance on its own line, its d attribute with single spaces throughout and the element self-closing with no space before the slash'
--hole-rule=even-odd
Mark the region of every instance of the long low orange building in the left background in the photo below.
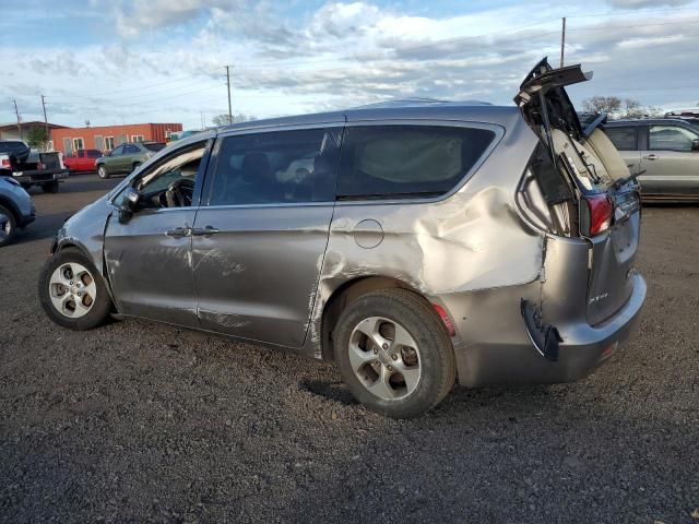
<svg viewBox="0 0 699 524">
<path fill-rule="evenodd" d="M 181 131 L 181 123 L 129 123 L 51 130 L 54 148 L 64 155 L 75 150 L 111 151 L 126 142 L 168 142 L 171 132 Z"/>
</svg>

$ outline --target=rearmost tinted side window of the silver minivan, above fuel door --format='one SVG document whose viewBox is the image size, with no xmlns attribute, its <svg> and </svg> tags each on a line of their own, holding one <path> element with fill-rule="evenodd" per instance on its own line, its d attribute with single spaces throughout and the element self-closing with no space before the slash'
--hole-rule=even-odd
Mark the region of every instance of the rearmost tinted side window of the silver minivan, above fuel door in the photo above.
<svg viewBox="0 0 699 524">
<path fill-rule="evenodd" d="M 476 128 L 369 126 L 347 128 L 337 196 L 440 195 L 481 158 L 495 133 Z"/>
</svg>

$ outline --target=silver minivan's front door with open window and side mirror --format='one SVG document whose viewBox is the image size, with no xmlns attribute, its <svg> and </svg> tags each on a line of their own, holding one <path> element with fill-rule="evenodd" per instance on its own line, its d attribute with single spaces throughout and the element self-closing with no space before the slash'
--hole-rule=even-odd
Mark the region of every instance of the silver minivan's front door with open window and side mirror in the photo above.
<svg viewBox="0 0 699 524">
<path fill-rule="evenodd" d="M 200 142 L 180 147 L 140 174 L 129 183 L 140 193 L 131 218 L 120 221 L 117 211 L 109 217 L 105 261 L 119 312 L 199 325 L 191 228 L 206 146 Z"/>
</svg>

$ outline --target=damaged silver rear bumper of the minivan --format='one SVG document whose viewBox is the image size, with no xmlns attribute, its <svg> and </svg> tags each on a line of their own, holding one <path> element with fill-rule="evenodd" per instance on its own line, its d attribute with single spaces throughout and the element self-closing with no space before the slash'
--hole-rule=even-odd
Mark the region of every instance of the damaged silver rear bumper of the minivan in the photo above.
<svg viewBox="0 0 699 524">
<path fill-rule="evenodd" d="M 583 319 L 577 322 L 555 324 L 562 343 L 558 360 L 543 358 L 529 341 L 521 325 L 518 342 L 509 344 L 477 343 L 455 344 L 459 382 L 466 386 L 493 384 L 544 384 L 579 380 L 602 362 L 628 338 L 645 300 L 645 281 L 636 273 L 633 291 L 624 307 L 612 318 L 597 325 Z M 512 319 L 513 320 L 513 319 Z M 521 341 L 521 342 L 519 342 Z"/>
</svg>

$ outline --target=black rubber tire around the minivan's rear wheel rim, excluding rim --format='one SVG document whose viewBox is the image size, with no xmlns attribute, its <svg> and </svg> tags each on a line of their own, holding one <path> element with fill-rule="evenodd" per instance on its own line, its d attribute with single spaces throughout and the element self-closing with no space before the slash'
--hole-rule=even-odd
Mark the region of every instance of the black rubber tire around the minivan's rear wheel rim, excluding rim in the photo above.
<svg viewBox="0 0 699 524">
<path fill-rule="evenodd" d="M 384 400 L 371 393 L 350 364 L 352 333 L 363 320 L 372 317 L 400 324 L 419 348 L 419 380 L 414 391 L 401 398 Z M 427 300 L 407 289 L 381 289 L 350 303 L 333 332 L 333 354 L 340 374 L 355 398 L 392 418 L 416 417 L 437 406 L 457 377 L 453 347 L 441 320 Z"/>
</svg>

